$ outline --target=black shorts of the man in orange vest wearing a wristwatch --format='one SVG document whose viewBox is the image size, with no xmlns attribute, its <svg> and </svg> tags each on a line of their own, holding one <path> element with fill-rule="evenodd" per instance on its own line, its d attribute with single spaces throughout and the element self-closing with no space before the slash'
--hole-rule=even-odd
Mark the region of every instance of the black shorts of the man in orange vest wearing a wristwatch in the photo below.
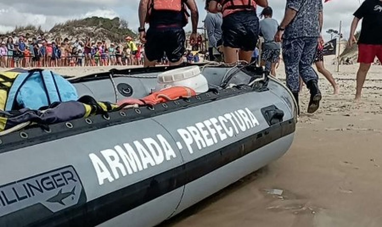
<svg viewBox="0 0 382 227">
<path fill-rule="evenodd" d="M 161 61 L 167 56 L 178 62 L 185 53 L 186 34 L 183 28 L 149 28 L 146 34 L 145 53 L 149 61 Z"/>
</svg>

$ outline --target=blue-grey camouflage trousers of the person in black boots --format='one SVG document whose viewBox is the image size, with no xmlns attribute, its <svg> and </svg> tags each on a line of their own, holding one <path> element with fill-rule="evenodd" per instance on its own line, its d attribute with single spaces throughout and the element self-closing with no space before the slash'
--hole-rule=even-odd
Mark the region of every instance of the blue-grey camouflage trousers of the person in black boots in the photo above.
<svg viewBox="0 0 382 227">
<path fill-rule="evenodd" d="M 305 84 L 309 80 L 318 82 L 317 73 L 312 68 L 317 45 L 317 37 L 283 40 L 286 85 L 292 92 L 299 92 L 299 76 L 301 76 Z"/>
</svg>

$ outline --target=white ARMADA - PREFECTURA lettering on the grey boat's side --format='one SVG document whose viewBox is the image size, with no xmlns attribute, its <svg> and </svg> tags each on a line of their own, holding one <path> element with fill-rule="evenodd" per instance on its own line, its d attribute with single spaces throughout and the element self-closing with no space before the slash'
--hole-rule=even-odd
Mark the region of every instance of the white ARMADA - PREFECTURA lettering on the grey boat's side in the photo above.
<svg viewBox="0 0 382 227">
<path fill-rule="evenodd" d="M 248 108 L 239 109 L 176 130 L 183 140 L 183 143 L 176 142 L 176 145 L 179 150 L 183 150 L 185 145 L 188 152 L 193 154 L 195 149 L 210 147 L 258 125 L 259 121 Z M 156 138 L 149 137 L 116 145 L 114 149 L 100 151 L 100 154 L 102 156 L 89 154 L 99 185 L 103 185 L 105 180 L 113 182 L 121 176 L 144 171 L 177 158 L 170 143 L 161 134 L 156 135 Z"/>
</svg>

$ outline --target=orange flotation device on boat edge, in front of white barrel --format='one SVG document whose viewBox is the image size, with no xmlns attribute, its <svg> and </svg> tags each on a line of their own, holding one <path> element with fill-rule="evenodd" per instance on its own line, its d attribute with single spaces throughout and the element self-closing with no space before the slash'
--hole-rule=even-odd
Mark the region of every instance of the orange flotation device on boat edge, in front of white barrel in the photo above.
<svg viewBox="0 0 382 227">
<path fill-rule="evenodd" d="M 154 106 L 158 103 L 177 100 L 180 98 L 190 98 L 196 95 L 196 92 L 189 87 L 170 87 L 167 89 L 154 92 L 149 96 L 142 98 L 147 105 Z"/>
</svg>

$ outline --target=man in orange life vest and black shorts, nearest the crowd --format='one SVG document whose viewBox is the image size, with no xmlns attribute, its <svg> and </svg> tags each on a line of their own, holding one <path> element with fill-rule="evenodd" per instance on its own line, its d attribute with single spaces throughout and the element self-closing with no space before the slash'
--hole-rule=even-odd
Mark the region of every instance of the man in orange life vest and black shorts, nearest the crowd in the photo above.
<svg viewBox="0 0 382 227">
<path fill-rule="evenodd" d="M 170 65 L 183 62 L 186 35 L 183 27 L 191 11 L 190 43 L 196 43 L 199 13 L 195 0 L 141 0 L 139 4 L 139 38 L 145 44 L 145 67 L 155 66 L 163 56 Z M 145 23 L 149 23 L 146 32 Z"/>
</svg>

